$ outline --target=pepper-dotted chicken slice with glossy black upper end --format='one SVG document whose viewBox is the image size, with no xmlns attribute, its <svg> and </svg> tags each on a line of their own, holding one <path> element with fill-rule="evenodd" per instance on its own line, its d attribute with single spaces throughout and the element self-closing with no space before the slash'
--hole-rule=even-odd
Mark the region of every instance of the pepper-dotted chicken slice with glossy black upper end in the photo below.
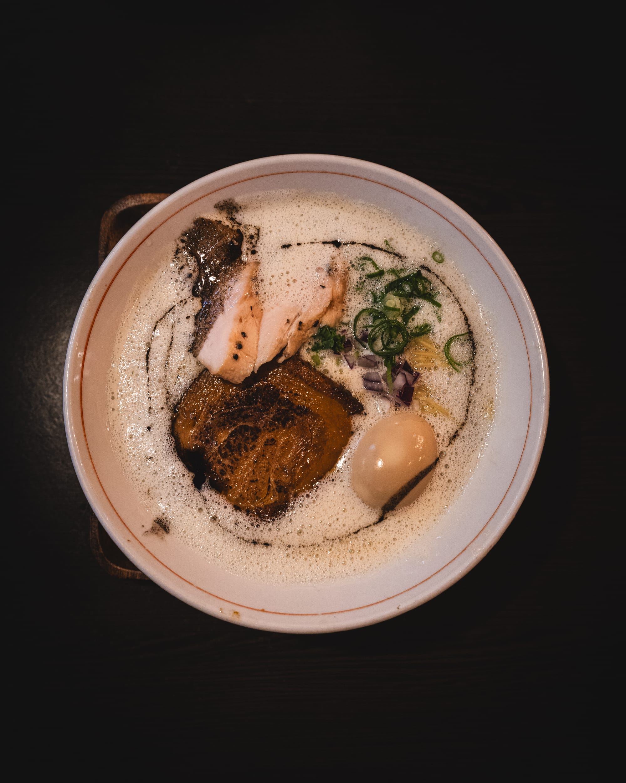
<svg viewBox="0 0 626 783">
<path fill-rule="evenodd" d="M 196 218 L 182 237 L 198 265 L 193 295 L 202 299 L 192 354 L 207 370 L 240 384 L 257 359 L 261 307 L 257 262 L 242 258 L 243 234 L 220 220 Z"/>
</svg>

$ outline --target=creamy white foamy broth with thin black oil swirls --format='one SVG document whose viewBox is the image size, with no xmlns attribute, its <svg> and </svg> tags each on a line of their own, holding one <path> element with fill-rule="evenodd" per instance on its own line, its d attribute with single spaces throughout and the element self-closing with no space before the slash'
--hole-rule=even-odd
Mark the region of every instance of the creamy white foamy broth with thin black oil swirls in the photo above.
<svg viewBox="0 0 626 783">
<path fill-rule="evenodd" d="M 417 413 L 419 406 L 394 406 L 365 391 L 365 370 L 358 366 L 350 370 L 344 359 L 322 351 L 318 369 L 347 386 L 366 412 L 352 417 L 354 435 L 335 469 L 272 521 L 236 511 L 206 484 L 196 489 L 192 474 L 178 459 L 171 436 L 174 405 L 204 369 L 189 352 L 194 317 L 200 309 L 200 300 L 191 293 L 196 263 L 185 251 L 178 249 L 176 254 L 176 244 L 154 259 L 153 276 L 132 292 L 122 320 L 108 388 L 113 449 L 149 514 L 159 518 L 171 536 L 221 566 L 275 583 L 359 574 L 389 561 L 436 525 L 441 513 L 462 493 L 480 459 L 495 415 L 498 377 L 487 316 L 455 269 L 455 259 L 448 258 L 446 248 L 435 247 L 390 212 L 333 193 L 296 191 L 255 193 L 240 198 L 239 204 L 239 221 L 261 229 L 254 259 L 261 262 L 257 287 L 262 306 L 292 298 L 301 301 L 301 287 L 308 290 L 308 277 L 337 252 L 332 244 L 309 243 L 339 240 L 387 248 L 387 240 L 404 258 L 358 244 L 341 247 L 340 252 L 351 262 L 344 323 L 351 323 L 359 310 L 371 305 L 370 290 L 380 290 L 383 282 L 392 279 L 367 280 L 362 282 L 362 290 L 355 290 L 365 272 L 373 269 L 371 265 L 365 270 L 358 268 L 357 259 L 365 254 L 383 269 L 401 267 L 407 274 L 425 265 L 432 270 L 429 273 L 422 268 L 438 291 L 441 321 L 434 305 L 422 302 L 416 322 L 433 325 L 430 338 L 438 348 L 453 334 L 466 332 L 465 311 L 476 344 L 474 370 L 470 365 L 461 372 L 451 367 L 426 370 L 419 379 L 430 396 L 452 413 L 452 417 L 420 413 L 433 426 L 440 449 L 433 480 L 416 503 L 392 511 L 380 524 L 374 524 L 380 510 L 366 506 L 351 488 L 354 449 L 376 421 L 399 410 Z M 225 219 L 217 210 L 204 216 Z M 444 254 L 444 263 L 433 261 L 434 251 Z M 346 328 L 351 335 L 351 326 Z M 311 343 L 300 353 L 308 361 Z M 462 345 L 455 350 L 462 354 Z M 462 428 L 450 444 L 459 425 Z M 443 525 L 441 533 L 437 532 L 440 534 L 445 534 Z M 163 535 L 162 528 L 153 525 L 145 535 Z"/>
</svg>

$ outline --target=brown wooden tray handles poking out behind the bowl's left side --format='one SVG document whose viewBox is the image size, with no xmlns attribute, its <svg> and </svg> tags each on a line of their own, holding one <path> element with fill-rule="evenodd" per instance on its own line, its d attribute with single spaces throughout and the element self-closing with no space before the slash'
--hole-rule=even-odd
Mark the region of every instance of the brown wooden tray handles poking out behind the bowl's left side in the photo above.
<svg viewBox="0 0 626 783">
<path fill-rule="evenodd" d="M 135 196 L 121 198 L 107 209 L 100 221 L 98 265 L 102 264 L 113 247 L 139 218 L 169 195 L 169 193 L 136 193 Z M 118 579 L 148 579 L 113 543 L 113 539 L 100 525 L 93 511 L 89 514 L 89 543 L 95 559 L 111 576 L 117 576 Z"/>
</svg>

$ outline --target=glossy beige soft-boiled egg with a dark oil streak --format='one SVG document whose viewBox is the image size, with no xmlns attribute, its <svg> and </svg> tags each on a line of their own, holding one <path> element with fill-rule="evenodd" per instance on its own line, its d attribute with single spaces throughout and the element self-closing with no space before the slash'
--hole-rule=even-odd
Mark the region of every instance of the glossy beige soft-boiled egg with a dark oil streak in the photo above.
<svg viewBox="0 0 626 783">
<path fill-rule="evenodd" d="M 408 506 L 426 489 L 437 458 L 430 424 L 414 413 L 396 413 L 363 435 L 354 452 L 352 487 L 373 508 Z"/>
</svg>

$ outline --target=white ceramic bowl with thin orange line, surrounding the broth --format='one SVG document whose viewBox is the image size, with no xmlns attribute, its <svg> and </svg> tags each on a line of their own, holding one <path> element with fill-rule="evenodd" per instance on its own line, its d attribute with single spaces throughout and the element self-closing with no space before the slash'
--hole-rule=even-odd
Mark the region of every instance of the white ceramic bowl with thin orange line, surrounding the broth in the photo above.
<svg viewBox="0 0 626 783">
<path fill-rule="evenodd" d="M 490 313 L 500 363 L 495 425 L 473 478 L 437 525 L 424 559 L 409 548 L 350 579 L 272 586 L 226 572 L 182 542 L 142 536 L 152 519 L 124 478 L 106 430 L 106 381 L 128 293 L 217 200 L 259 190 L 335 192 L 385 207 L 444 247 Z M 85 294 L 67 348 L 65 426 L 81 486 L 117 546 L 150 579 L 210 615 L 292 633 L 344 630 L 407 612 L 473 568 L 513 519 L 537 469 L 548 422 L 548 364 L 527 291 L 491 236 L 416 179 L 333 155 L 281 155 L 216 171 L 178 190 L 113 248 Z M 497 590 L 497 585 L 494 585 Z"/>
</svg>

